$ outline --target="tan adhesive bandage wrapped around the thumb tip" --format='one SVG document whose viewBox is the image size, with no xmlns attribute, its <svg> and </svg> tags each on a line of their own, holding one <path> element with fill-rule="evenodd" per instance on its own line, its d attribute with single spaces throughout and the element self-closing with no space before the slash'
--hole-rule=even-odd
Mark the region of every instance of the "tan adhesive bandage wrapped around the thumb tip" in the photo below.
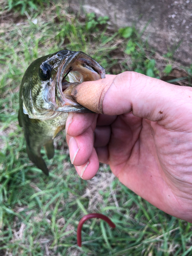
<svg viewBox="0 0 192 256">
<path fill-rule="evenodd" d="M 115 77 L 112 75 L 111 77 L 96 81 L 82 82 L 72 89 L 71 96 L 87 109 L 98 114 L 103 114 L 103 99 Z"/>
</svg>

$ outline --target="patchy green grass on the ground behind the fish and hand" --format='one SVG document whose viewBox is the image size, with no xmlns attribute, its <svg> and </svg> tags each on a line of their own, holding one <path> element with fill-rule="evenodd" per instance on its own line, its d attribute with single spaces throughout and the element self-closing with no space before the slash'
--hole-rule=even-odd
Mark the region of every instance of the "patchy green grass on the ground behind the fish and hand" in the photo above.
<svg viewBox="0 0 192 256">
<path fill-rule="evenodd" d="M 161 56 L 162 65 L 134 28 L 110 31 L 107 17 L 82 19 L 63 3 L 43 8 L 22 17 L 19 9 L 1 27 L 0 255 L 191 255 L 191 224 L 138 197 L 106 165 L 92 180 L 80 179 L 62 133 L 55 139 L 54 159 L 46 159 L 50 177 L 28 159 L 17 121 L 18 91 L 34 59 L 69 49 L 86 52 L 111 74 L 135 70 L 159 77 L 174 67 Z M 91 212 L 109 216 L 116 228 L 87 221 L 79 248 L 77 225 Z"/>
</svg>

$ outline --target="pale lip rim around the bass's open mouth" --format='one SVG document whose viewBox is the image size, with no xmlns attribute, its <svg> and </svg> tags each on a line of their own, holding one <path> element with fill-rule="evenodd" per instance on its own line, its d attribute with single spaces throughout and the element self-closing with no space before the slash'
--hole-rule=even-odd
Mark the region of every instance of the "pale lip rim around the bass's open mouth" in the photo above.
<svg viewBox="0 0 192 256">
<path fill-rule="evenodd" d="M 95 61 L 92 57 L 87 55 L 83 52 L 73 52 L 71 55 L 63 57 L 58 65 L 58 70 L 56 74 L 56 84 L 55 84 L 55 97 L 56 97 L 56 103 L 57 103 L 57 110 L 58 112 L 69 112 L 69 109 L 65 106 L 65 96 L 62 92 L 62 79 L 69 70 L 69 68 L 73 65 L 73 63 L 76 60 L 80 60 L 84 63 L 86 63 L 89 66 L 92 66 L 95 68 L 95 70 L 98 72 L 101 78 L 105 78 L 105 70 L 102 68 L 97 61 Z M 80 109 L 77 108 L 77 106 L 71 106 L 70 112 L 82 112 L 83 110 L 85 112 L 90 112 L 88 109 L 83 107 L 79 104 L 78 106 Z M 86 111 L 87 110 L 87 111 Z"/>
</svg>

